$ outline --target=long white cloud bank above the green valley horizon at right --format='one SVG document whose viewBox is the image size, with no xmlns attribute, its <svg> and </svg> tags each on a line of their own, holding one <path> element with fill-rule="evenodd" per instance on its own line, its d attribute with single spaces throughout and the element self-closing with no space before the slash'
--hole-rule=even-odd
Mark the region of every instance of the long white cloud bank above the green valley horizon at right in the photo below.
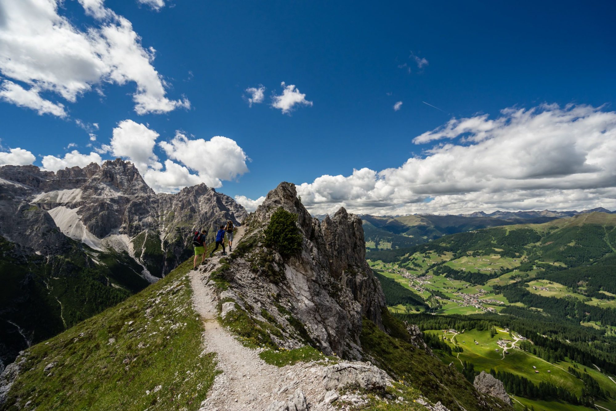
<svg viewBox="0 0 616 411">
<path fill-rule="evenodd" d="M 510 108 L 495 120 L 450 120 L 413 141 L 442 139 L 397 168 L 318 177 L 298 194 L 315 214 L 616 208 L 616 112 Z"/>
</svg>

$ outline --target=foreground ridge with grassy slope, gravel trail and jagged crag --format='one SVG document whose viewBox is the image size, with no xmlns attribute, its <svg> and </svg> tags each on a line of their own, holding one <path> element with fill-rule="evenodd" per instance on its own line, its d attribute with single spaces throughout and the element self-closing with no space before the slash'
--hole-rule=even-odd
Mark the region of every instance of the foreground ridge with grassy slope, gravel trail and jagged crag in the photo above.
<svg viewBox="0 0 616 411">
<path fill-rule="evenodd" d="M 26 349 L 0 409 L 511 409 L 389 314 L 357 216 L 312 219 L 282 183 L 234 246 Z"/>
</svg>

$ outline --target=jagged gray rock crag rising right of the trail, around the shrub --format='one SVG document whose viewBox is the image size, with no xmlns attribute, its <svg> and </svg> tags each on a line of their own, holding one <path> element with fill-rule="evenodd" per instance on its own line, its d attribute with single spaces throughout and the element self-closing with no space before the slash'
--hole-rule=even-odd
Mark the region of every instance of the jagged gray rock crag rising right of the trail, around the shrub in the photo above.
<svg viewBox="0 0 616 411">
<path fill-rule="evenodd" d="M 298 216 L 302 234 L 301 251 L 286 259 L 262 246 L 263 230 L 281 207 Z M 265 309 L 282 326 L 284 338 L 272 339 L 285 348 L 310 342 L 326 354 L 360 359 L 362 315 L 383 328 L 385 306 L 381 285 L 365 261 L 361 219 L 341 208 L 320 222 L 296 197 L 295 186 L 283 182 L 249 215 L 246 226 L 243 242 L 254 246 L 233 262 L 229 277 L 235 293 L 253 307 L 249 311 Z M 271 260 L 270 272 L 262 266 L 266 260 Z"/>
</svg>

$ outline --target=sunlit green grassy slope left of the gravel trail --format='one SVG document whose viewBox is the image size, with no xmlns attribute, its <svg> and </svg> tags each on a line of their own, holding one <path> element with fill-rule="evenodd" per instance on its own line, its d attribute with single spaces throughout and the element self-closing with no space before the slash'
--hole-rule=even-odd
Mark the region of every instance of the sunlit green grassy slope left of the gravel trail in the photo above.
<svg viewBox="0 0 616 411">
<path fill-rule="evenodd" d="M 192 260 L 192 259 L 191 259 Z M 186 261 L 123 303 L 26 351 L 2 410 L 198 409 L 215 376 L 201 354 Z M 51 368 L 46 367 L 54 364 Z"/>
</svg>

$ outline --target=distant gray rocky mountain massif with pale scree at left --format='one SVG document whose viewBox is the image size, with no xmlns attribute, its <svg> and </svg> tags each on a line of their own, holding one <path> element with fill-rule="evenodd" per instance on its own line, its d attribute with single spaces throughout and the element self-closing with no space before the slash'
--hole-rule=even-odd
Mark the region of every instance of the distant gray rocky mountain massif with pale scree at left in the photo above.
<svg viewBox="0 0 616 411">
<path fill-rule="evenodd" d="M 0 167 L 0 235 L 43 255 L 61 253 L 67 237 L 95 250 L 126 251 L 150 281 L 188 257 L 192 230 L 239 225 L 247 215 L 205 184 L 156 194 L 120 158 L 57 173 Z"/>
</svg>

